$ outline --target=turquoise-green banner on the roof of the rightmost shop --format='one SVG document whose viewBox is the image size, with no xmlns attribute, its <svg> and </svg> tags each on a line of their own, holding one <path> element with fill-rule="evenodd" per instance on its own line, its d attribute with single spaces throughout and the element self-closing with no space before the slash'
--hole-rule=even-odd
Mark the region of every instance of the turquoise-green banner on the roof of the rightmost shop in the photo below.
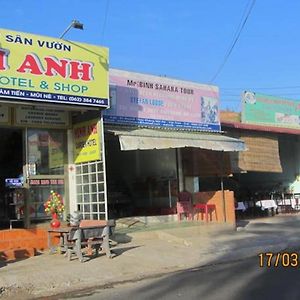
<svg viewBox="0 0 300 300">
<path fill-rule="evenodd" d="M 300 102 L 253 92 L 242 95 L 242 122 L 300 128 Z"/>
</svg>

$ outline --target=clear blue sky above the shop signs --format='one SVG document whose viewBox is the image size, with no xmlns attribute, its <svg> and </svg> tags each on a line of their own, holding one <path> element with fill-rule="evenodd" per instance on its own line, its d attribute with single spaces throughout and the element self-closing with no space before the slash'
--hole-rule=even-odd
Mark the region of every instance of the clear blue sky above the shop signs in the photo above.
<svg viewBox="0 0 300 300">
<path fill-rule="evenodd" d="M 220 89 L 222 110 L 241 110 L 245 90 L 300 100 L 300 1 L 257 0 L 218 76 L 253 0 L 0 0 L 0 28 L 109 48 L 110 67 Z"/>
</svg>

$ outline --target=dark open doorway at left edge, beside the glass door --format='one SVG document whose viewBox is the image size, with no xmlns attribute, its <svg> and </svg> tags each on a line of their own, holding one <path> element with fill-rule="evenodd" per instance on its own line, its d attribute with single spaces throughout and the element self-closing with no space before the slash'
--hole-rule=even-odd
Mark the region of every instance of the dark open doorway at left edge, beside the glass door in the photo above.
<svg viewBox="0 0 300 300">
<path fill-rule="evenodd" d="M 0 227 L 7 228 L 9 220 L 17 218 L 15 204 L 23 173 L 23 130 L 0 128 L 0 142 Z"/>
</svg>

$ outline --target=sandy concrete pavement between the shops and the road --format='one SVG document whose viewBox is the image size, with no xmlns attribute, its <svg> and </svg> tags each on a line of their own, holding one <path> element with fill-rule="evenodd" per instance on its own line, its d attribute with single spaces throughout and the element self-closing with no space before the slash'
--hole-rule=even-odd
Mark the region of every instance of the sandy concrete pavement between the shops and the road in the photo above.
<svg viewBox="0 0 300 300">
<path fill-rule="evenodd" d="M 116 230 L 113 259 L 80 263 L 42 253 L 0 265 L 0 297 L 34 299 L 114 285 L 186 268 L 300 248 L 300 215 L 241 220 L 231 225 L 182 222 Z"/>
</svg>

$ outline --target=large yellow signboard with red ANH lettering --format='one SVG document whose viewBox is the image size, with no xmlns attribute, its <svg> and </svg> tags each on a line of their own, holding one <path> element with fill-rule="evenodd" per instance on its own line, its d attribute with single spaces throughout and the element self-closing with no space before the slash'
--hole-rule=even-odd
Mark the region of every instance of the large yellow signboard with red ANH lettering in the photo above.
<svg viewBox="0 0 300 300">
<path fill-rule="evenodd" d="M 0 29 L 0 99 L 108 107 L 108 49 Z"/>
</svg>

